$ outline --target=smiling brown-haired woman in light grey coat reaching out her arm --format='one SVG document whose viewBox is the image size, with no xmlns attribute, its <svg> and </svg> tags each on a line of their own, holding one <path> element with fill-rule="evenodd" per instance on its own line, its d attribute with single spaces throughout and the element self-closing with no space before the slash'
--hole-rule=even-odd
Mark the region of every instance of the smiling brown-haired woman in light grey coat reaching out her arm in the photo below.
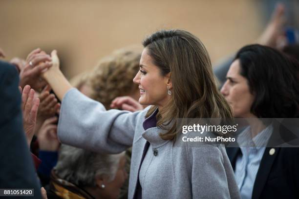
<svg viewBox="0 0 299 199">
<path fill-rule="evenodd" d="M 72 88 L 52 52 L 52 67 L 43 75 L 62 100 L 59 139 L 105 153 L 132 146 L 129 199 L 239 198 L 224 146 L 173 145 L 178 118 L 233 117 L 217 91 L 204 45 L 183 30 L 156 32 L 143 45 L 133 81 L 139 102 L 152 106 L 133 113 L 106 111 Z"/>
</svg>

